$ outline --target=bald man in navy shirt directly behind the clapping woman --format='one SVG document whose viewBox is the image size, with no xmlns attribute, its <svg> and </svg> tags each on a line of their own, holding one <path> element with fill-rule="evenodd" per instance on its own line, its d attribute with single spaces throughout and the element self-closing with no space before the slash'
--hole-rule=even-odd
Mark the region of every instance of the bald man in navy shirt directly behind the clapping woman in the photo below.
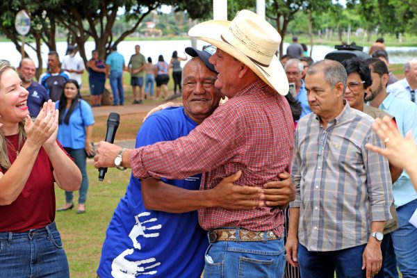
<svg viewBox="0 0 417 278">
<path fill-rule="evenodd" d="M 31 117 L 37 117 L 44 102 L 49 99 L 47 89 L 33 80 L 35 71 L 35 63 L 31 58 L 23 58 L 17 67 L 22 86 L 29 92 L 27 106 Z"/>
</svg>

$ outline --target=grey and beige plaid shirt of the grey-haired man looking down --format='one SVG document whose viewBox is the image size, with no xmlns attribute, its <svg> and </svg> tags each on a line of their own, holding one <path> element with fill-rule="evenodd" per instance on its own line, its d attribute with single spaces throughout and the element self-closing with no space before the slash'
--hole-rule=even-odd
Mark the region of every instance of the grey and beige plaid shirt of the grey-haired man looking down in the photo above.
<svg viewBox="0 0 417 278">
<path fill-rule="evenodd" d="M 303 117 L 295 131 L 291 176 L 300 207 L 298 239 L 309 251 L 336 251 L 368 242 L 370 221 L 389 220 L 393 202 L 386 158 L 365 144 L 384 143 L 373 119 L 350 108 L 323 129 L 318 115 Z"/>
</svg>

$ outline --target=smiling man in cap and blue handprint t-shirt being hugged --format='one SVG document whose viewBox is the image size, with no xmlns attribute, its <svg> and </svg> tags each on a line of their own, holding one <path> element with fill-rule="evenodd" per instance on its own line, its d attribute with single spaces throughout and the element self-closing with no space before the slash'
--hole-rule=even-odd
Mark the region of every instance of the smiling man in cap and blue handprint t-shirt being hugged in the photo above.
<svg viewBox="0 0 417 278">
<path fill-rule="evenodd" d="M 147 118 L 136 137 L 136 147 L 186 136 L 215 111 L 222 95 L 214 87 L 217 73 L 208 63 L 214 51 L 186 49 L 195 58 L 183 68 L 183 107 L 167 108 Z M 203 191 L 199 191 L 201 174 L 163 182 L 131 176 L 107 229 L 97 275 L 200 277 L 208 240 L 206 231 L 199 227 L 197 208 L 249 209 L 262 204 L 254 200 L 259 199 L 259 188 L 233 186 L 239 176 Z"/>
</svg>

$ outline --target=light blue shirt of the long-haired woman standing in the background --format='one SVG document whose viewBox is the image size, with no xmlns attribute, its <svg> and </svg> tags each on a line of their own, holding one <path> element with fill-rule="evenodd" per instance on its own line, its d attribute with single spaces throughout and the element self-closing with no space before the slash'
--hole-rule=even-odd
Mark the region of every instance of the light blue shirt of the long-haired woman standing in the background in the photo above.
<svg viewBox="0 0 417 278">
<path fill-rule="evenodd" d="M 59 101 L 56 101 L 56 106 L 59 107 Z M 67 115 L 67 112 L 68 110 L 65 109 L 65 115 Z M 74 111 L 72 111 L 68 124 L 65 124 L 63 121 L 58 126 L 57 138 L 63 147 L 84 149 L 85 126 L 90 126 L 92 124 L 94 124 L 94 115 L 92 114 L 90 104 L 88 104 L 87 101 L 80 99 L 79 103 L 76 104 Z"/>
</svg>

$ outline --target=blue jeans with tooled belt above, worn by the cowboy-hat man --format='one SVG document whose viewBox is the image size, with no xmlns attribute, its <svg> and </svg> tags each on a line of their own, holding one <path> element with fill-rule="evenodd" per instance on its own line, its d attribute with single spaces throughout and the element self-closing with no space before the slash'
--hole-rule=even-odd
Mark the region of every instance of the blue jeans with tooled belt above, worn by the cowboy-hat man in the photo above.
<svg viewBox="0 0 417 278">
<path fill-rule="evenodd" d="M 283 239 L 217 241 L 206 251 L 204 278 L 281 278 L 285 267 L 284 251 Z"/>
</svg>

